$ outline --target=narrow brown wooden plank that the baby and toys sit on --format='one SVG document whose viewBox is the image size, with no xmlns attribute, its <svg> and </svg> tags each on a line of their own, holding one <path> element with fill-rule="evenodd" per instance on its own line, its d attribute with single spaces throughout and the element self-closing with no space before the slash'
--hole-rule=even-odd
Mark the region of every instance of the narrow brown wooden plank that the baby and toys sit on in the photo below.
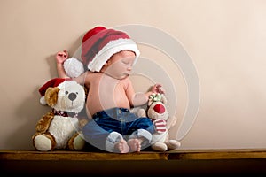
<svg viewBox="0 0 266 177">
<path fill-rule="evenodd" d="M 167 152 L 108 153 L 54 150 L 0 150 L 0 160 L 190 160 L 190 159 L 259 159 L 266 158 L 262 150 L 175 150 Z"/>
</svg>

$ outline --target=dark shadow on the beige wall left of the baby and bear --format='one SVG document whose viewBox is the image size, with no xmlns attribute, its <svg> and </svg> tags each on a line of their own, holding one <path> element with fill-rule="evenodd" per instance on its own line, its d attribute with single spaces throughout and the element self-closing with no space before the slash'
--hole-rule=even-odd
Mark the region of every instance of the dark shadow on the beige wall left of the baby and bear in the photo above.
<svg viewBox="0 0 266 177">
<path fill-rule="evenodd" d="M 69 45 L 72 46 L 70 49 L 62 50 L 68 50 L 69 56 L 71 57 L 81 45 L 82 36 L 83 35 L 76 39 L 72 45 Z M 57 51 L 45 58 L 50 70 L 50 78 L 48 80 L 58 77 L 55 60 L 56 52 Z M 36 88 L 32 90 L 31 96 L 23 100 L 18 109 L 15 110 L 17 119 L 14 121 L 25 123 L 20 124 L 20 126 L 16 126 L 17 129 L 14 129 L 11 135 L 7 135 L 6 141 L 4 143 L 8 144 L 8 148 L 13 147 L 16 150 L 34 150 L 32 135 L 35 134 L 35 125 L 46 112 L 51 111 L 51 107 L 40 104 L 41 96 L 39 94 L 39 89 L 46 82 L 46 79 L 44 78 L 46 77 L 43 77 L 42 83 L 37 83 Z"/>
</svg>

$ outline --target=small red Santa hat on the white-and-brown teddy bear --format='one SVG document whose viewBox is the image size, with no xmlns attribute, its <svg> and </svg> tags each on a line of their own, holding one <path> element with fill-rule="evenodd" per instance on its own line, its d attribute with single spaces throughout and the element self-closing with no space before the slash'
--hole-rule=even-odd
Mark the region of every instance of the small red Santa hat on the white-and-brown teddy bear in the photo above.
<svg viewBox="0 0 266 177">
<path fill-rule="evenodd" d="M 70 81 L 70 80 L 72 80 L 72 79 L 71 78 L 53 78 L 50 81 L 47 81 L 46 83 L 44 83 L 43 86 L 39 89 L 39 93 L 42 96 L 40 98 L 40 103 L 43 105 L 46 104 L 45 99 L 44 99 L 44 95 L 45 95 L 45 92 L 48 88 L 58 87 L 59 84 L 62 83 L 63 81 Z"/>
</svg>

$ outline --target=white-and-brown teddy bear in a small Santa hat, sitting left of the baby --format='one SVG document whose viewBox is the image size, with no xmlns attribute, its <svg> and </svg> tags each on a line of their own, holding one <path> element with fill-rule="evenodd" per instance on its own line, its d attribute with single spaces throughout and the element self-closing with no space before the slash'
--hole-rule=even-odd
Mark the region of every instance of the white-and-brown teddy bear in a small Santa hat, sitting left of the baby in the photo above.
<svg viewBox="0 0 266 177">
<path fill-rule="evenodd" d="M 51 111 L 38 120 L 32 136 L 36 150 L 56 149 L 82 150 L 85 145 L 81 133 L 82 112 L 86 90 L 72 79 L 54 78 L 40 89 L 40 103 L 47 104 Z"/>
</svg>

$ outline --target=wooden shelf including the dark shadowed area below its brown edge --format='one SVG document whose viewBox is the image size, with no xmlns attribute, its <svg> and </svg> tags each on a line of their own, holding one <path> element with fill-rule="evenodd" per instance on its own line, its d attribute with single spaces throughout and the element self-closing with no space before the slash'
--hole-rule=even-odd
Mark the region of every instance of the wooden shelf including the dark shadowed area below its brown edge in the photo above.
<svg viewBox="0 0 266 177">
<path fill-rule="evenodd" d="M 266 149 L 141 151 L 0 150 L 0 170 L 13 174 L 266 174 Z"/>
</svg>

